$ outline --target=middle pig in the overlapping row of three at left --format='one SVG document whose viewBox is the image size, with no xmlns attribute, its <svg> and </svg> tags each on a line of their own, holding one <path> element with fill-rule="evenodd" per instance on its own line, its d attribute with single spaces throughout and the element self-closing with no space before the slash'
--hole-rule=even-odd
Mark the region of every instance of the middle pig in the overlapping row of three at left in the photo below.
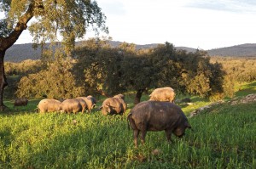
<svg viewBox="0 0 256 169">
<path fill-rule="evenodd" d="M 61 112 L 65 113 L 78 113 L 82 111 L 84 113 L 82 105 L 78 99 L 66 99 L 61 103 Z"/>
</svg>

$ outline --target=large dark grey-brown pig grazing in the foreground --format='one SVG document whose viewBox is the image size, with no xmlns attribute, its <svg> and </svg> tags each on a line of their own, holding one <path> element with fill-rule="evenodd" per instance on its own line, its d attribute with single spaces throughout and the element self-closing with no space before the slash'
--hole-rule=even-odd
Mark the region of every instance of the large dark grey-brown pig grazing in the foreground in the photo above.
<svg viewBox="0 0 256 169">
<path fill-rule="evenodd" d="M 176 105 L 169 102 L 145 101 L 137 104 L 127 116 L 133 129 L 134 144 L 137 147 L 137 138 L 141 133 L 142 144 L 145 143 L 147 131 L 166 131 L 168 142 L 172 133 L 178 138 L 183 137 L 185 129 L 191 128 L 187 117 Z"/>
</svg>

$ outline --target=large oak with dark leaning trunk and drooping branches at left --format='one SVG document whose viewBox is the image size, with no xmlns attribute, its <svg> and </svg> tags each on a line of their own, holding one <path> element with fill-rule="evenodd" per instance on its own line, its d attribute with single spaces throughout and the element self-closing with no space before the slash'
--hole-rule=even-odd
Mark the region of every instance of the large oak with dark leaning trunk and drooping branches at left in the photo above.
<svg viewBox="0 0 256 169">
<path fill-rule="evenodd" d="M 4 55 L 28 27 L 33 42 L 55 42 L 60 36 L 65 52 L 70 54 L 77 38 L 93 31 L 108 33 L 106 16 L 94 0 L 0 0 L 0 110 L 4 110 L 3 89 L 8 85 L 4 72 Z"/>
</svg>

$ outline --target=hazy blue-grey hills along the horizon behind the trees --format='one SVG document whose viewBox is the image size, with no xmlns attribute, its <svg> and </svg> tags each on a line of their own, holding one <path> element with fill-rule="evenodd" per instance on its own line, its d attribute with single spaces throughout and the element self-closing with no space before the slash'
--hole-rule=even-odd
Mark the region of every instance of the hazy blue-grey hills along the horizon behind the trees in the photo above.
<svg viewBox="0 0 256 169">
<path fill-rule="evenodd" d="M 79 42 L 78 42 L 79 43 Z M 111 41 L 113 47 L 119 46 L 121 42 Z M 155 48 L 159 43 L 137 45 L 140 48 Z M 195 52 L 195 48 L 175 47 L 188 52 Z M 226 48 L 215 48 L 207 50 L 210 56 L 235 56 L 235 57 L 256 57 L 256 43 L 247 43 Z M 20 62 L 26 59 L 40 59 L 41 49 L 32 48 L 32 43 L 16 44 L 6 51 L 5 61 Z"/>
</svg>

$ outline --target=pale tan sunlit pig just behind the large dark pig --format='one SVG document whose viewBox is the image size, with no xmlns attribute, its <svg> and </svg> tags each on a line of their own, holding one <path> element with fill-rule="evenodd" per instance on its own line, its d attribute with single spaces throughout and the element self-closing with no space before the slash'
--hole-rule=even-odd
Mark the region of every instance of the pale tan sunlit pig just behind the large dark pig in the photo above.
<svg viewBox="0 0 256 169">
<path fill-rule="evenodd" d="M 172 87 L 160 87 L 154 89 L 154 91 L 149 95 L 149 100 L 154 101 L 164 101 L 164 102 L 174 102 L 175 93 Z"/>
</svg>

